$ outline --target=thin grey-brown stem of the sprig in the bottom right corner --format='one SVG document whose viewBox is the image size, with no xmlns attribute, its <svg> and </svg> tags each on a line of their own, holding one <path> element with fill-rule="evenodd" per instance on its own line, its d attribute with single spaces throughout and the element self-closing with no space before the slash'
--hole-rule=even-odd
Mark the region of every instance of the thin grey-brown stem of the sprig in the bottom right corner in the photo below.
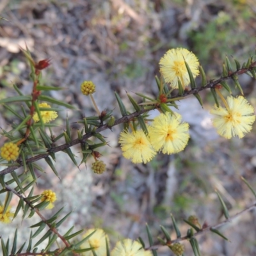
<svg viewBox="0 0 256 256">
<path fill-rule="evenodd" d="M 234 214 L 234 216 L 228 218 L 227 220 L 224 220 L 224 221 L 221 221 L 220 223 L 216 223 L 214 225 L 211 225 L 211 226 L 207 226 L 205 228 L 202 228 L 201 230 L 199 230 L 198 232 L 195 232 L 193 234 L 193 236 L 191 237 L 195 237 L 195 236 L 200 236 L 202 234 L 205 234 L 206 232 L 209 232 L 209 230 L 211 230 L 212 228 L 213 229 L 217 229 L 217 228 L 220 228 L 222 227 L 223 225 L 227 224 L 227 223 L 230 223 L 232 220 L 234 220 L 235 218 L 237 218 L 237 216 L 239 215 L 242 215 L 244 214 L 244 212 L 248 212 L 248 211 L 251 211 L 252 209 L 256 208 L 256 203 L 253 204 L 253 205 L 250 205 L 248 207 L 246 207 L 245 209 L 243 209 L 242 211 L 240 212 L 237 212 L 236 214 Z M 179 237 L 177 239 L 174 239 L 172 241 L 168 241 L 166 242 L 166 246 L 170 245 L 170 244 L 173 244 L 173 243 L 179 243 L 180 241 L 184 241 L 184 240 L 189 240 L 191 237 L 189 236 L 183 236 L 183 237 Z M 168 243 L 168 244 L 167 244 Z M 153 246 L 150 246 L 148 248 L 145 248 L 145 250 L 156 250 L 158 248 L 160 248 L 161 246 L 163 246 L 163 244 L 156 244 L 156 245 L 153 245 Z"/>
</svg>

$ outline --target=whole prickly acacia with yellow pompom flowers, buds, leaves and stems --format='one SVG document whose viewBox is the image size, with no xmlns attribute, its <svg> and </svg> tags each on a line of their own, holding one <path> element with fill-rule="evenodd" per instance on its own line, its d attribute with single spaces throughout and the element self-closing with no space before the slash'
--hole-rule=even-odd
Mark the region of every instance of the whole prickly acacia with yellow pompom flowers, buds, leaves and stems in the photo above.
<svg viewBox="0 0 256 256">
<path fill-rule="evenodd" d="M 79 230 L 72 232 L 74 227 L 70 227 L 65 234 L 60 234 L 59 227 L 67 219 L 69 214 L 63 216 L 63 208 L 57 209 L 51 218 L 45 218 L 44 209 L 54 207 L 56 193 L 54 188 L 45 190 L 42 194 L 34 193 L 34 186 L 40 177 L 36 177 L 35 170 L 44 172 L 42 167 L 36 163 L 44 159 L 58 177 L 58 168 L 53 161 L 55 155 L 63 151 L 72 162 L 79 166 L 70 147 L 80 145 L 83 159 L 81 163 L 86 163 L 89 157 L 93 157 L 94 163 L 92 170 L 101 174 L 106 170 L 106 164 L 100 161 L 99 148 L 108 145 L 106 138 L 101 132 L 111 129 L 115 125 L 123 125 L 124 130 L 120 133 L 119 143 L 123 156 L 130 159 L 132 163 L 148 163 L 156 154 L 177 154 L 184 150 L 189 141 L 189 125 L 182 121 L 182 116 L 175 112 L 178 108 L 177 101 L 189 96 L 194 96 L 203 106 L 199 93 L 203 90 L 211 90 L 215 101 L 212 106 L 212 124 L 220 136 L 230 139 L 234 136 L 243 138 L 252 129 L 255 121 L 254 109 L 244 98 L 243 90 L 239 84 L 238 77 L 241 74 L 256 79 L 255 56 L 250 56 L 246 63 L 241 65 L 237 60 L 225 58 L 223 72 L 219 79 L 207 81 L 203 67 L 200 66 L 195 54 L 187 49 L 170 49 L 159 61 L 159 76 L 156 76 L 156 86 L 158 95 L 156 99 L 147 97 L 142 93 L 136 93 L 141 100 L 136 102 L 127 93 L 127 97 L 134 108 L 134 112 L 129 113 L 122 102 L 122 99 L 115 93 L 118 106 L 120 108 L 120 118 L 116 119 L 111 115 L 111 111 L 100 111 L 97 102 L 93 99 L 93 93 L 97 93 L 97 85 L 92 81 L 84 81 L 81 84 L 81 92 L 84 97 L 89 96 L 97 113 L 96 116 L 86 116 L 82 120 L 77 120 L 81 124 L 81 129 L 77 130 L 77 138 L 72 140 L 70 135 L 70 124 L 65 125 L 65 131 L 55 134 L 54 120 L 58 117 L 58 106 L 74 109 L 66 102 L 53 99 L 45 95 L 49 90 L 60 90 L 61 88 L 45 86 L 42 82 L 42 70 L 50 65 L 49 59 L 36 62 L 31 57 L 28 49 L 22 50 L 31 68 L 31 79 L 33 88 L 31 95 L 23 95 L 19 88 L 14 84 L 13 89 L 17 95 L 7 99 L 0 99 L 6 111 L 15 116 L 19 123 L 13 123 L 9 131 L 1 130 L 0 163 L 0 193 L 5 195 L 4 202 L 0 202 L 0 221 L 10 223 L 14 218 L 33 218 L 34 215 L 40 217 L 40 221 L 32 225 L 31 235 L 28 243 L 17 246 L 16 231 L 14 239 L 10 241 L 8 237 L 1 237 L 1 246 L 4 256 L 7 255 L 157 255 L 157 248 L 168 246 L 175 255 L 184 254 L 183 241 L 187 240 L 193 248 L 195 255 L 200 255 L 200 250 L 196 237 L 204 232 L 214 232 L 223 239 L 227 239 L 218 227 L 225 225 L 227 221 L 236 218 L 243 212 L 250 211 L 256 204 L 250 205 L 238 212 L 235 216 L 229 216 L 227 206 L 221 195 L 216 191 L 220 200 L 226 220 L 216 225 L 200 224 L 196 216 L 190 216 L 184 220 L 191 227 L 187 234 L 180 234 L 179 227 L 172 216 L 173 228 L 177 234 L 175 239 L 170 236 L 170 230 L 161 226 L 162 236 L 152 237 L 150 228 L 146 225 L 149 246 L 140 237 L 138 241 L 124 239 L 116 243 L 111 249 L 108 235 L 102 229 Z M 200 77 L 200 83 L 196 83 L 195 77 Z M 198 80 L 198 81 L 199 81 Z M 230 86 L 229 81 L 234 81 L 234 86 Z M 239 95 L 234 96 L 235 88 L 238 88 Z M 225 98 L 223 91 L 226 90 L 229 96 Z M 20 113 L 13 109 L 13 104 L 20 104 Z M 12 105 L 10 105 L 12 103 Z M 57 107 L 52 107 L 52 105 Z M 154 109 L 159 111 L 159 115 L 150 120 L 148 113 Z M 65 143 L 61 144 L 61 138 Z M 97 138 L 98 142 L 89 140 Z M 17 174 L 19 170 L 19 174 Z M 10 174 L 10 175 L 7 175 Z M 8 177 L 8 179 L 7 179 Z M 32 179 L 31 179 L 32 177 Z M 29 178 L 29 179 L 28 179 Z M 255 191 L 246 180 L 243 179 L 253 195 Z M 19 200 L 15 209 L 11 209 L 10 202 L 13 196 Z M 52 210 L 54 211 L 54 209 Z M 21 212 L 21 214 L 19 214 Z M 19 215 L 18 215 L 19 214 Z M 83 236 L 80 234 L 84 232 Z M 38 236 L 40 234 L 40 236 Z M 40 238 L 38 238 L 40 237 Z M 81 238 L 82 237 L 82 238 Z M 43 249 L 38 246 L 47 239 Z M 57 239 L 60 241 L 57 243 Z M 182 242 L 182 243 L 180 243 Z M 32 245 L 33 244 L 33 245 Z"/>
</svg>

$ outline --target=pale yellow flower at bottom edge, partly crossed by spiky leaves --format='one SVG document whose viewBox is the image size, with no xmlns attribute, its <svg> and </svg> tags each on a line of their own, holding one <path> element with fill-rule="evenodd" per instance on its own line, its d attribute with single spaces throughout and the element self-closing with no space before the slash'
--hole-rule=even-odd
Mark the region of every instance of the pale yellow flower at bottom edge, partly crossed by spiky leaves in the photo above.
<svg viewBox="0 0 256 256">
<path fill-rule="evenodd" d="M 94 228 L 90 228 L 87 230 L 87 232 L 83 235 L 83 237 L 89 236 L 93 231 L 95 231 Z M 83 244 L 82 248 L 90 248 L 93 247 L 95 253 L 100 256 L 106 256 L 107 255 L 107 248 L 106 248 L 106 239 L 109 243 L 108 235 L 104 232 L 102 229 L 97 229 L 95 233 L 93 233 L 92 236 L 90 236 L 89 239 L 87 239 Z M 83 252 L 83 256 L 93 256 L 92 251 Z"/>
</svg>

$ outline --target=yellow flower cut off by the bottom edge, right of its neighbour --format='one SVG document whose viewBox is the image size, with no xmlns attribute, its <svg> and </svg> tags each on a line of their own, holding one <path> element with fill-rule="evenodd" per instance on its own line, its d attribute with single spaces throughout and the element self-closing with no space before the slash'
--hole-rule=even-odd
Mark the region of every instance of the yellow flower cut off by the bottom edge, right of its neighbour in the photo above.
<svg viewBox="0 0 256 256">
<path fill-rule="evenodd" d="M 118 241 L 111 252 L 111 256 L 152 256 L 151 251 L 145 251 L 142 245 L 131 239 Z"/>
</svg>

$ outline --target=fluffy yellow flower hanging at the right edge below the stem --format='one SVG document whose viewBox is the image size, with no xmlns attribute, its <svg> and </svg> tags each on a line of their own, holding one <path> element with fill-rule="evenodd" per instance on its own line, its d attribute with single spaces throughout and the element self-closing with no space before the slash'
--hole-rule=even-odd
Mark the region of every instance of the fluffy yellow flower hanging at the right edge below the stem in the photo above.
<svg viewBox="0 0 256 256">
<path fill-rule="evenodd" d="M 255 121 L 254 109 L 243 96 L 237 98 L 229 96 L 224 102 L 225 108 L 214 107 L 210 113 L 214 115 L 212 124 L 217 129 L 218 134 L 226 139 L 234 136 L 243 138 L 252 130 Z"/>
</svg>

